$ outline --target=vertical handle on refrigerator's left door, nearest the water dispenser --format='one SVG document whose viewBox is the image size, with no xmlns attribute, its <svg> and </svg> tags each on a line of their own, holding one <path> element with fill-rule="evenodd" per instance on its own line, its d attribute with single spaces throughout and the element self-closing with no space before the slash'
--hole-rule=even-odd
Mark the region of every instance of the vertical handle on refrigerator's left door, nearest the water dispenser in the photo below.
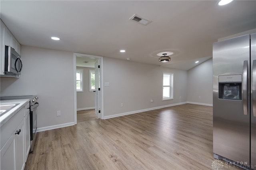
<svg viewBox="0 0 256 170">
<path fill-rule="evenodd" d="M 243 107 L 244 115 L 248 115 L 248 104 L 247 104 L 247 75 L 248 75 L 248 61 L 244 61 L 244 70 L 243 70 Z"/>
</svg>

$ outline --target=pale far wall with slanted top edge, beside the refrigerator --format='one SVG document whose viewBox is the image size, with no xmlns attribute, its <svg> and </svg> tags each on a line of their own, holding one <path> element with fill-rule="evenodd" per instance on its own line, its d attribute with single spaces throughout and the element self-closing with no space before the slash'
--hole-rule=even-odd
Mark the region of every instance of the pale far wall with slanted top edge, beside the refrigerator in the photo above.
<svg viewBox="0 0 256 170">
<path fill-rule="evenodd" d="M 188 102 L 212 105 L 212 58 L 188 70 Z"/>
</svg>

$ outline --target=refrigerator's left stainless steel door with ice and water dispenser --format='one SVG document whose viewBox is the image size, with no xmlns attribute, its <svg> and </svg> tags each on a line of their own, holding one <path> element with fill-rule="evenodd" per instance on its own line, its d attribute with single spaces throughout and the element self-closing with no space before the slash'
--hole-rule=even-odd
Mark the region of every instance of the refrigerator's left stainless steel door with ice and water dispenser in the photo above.
<svg viewBox="0 0 256 170">
<path fill-rule="evenodd" d="M 223 75 L 238 82 L 219 84 Z M 224 76 L 228 79 L 229 76 Z M 232 81 L 232 80 L 231 80 Z M 222 80 L 222 83 L 223 80 Z M 242 97 L 220 98 L 223 88 L 238 83 Z M 233 89 L 233 87 L 231 88 Z M 250 35 L 213 44 L 213 152 L 241 164 L 250 164 Z"/>
</svg>

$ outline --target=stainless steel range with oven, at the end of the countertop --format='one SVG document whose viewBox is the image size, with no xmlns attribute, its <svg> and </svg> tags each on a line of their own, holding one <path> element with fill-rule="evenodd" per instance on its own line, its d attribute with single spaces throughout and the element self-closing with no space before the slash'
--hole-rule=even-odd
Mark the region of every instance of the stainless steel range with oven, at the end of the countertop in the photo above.
<svg viewBox="0 0 256 170">
<path fill-rule="evenodd" d="M 36 129 L 37 129 L 37 107 L 38 96 L 27 95 L 27 96 L 6 96 L 0 97 L 0 100 L 16 100 L 16 99 L 30 99 L 30 152 L 33 151 L 36 142 Z"/>
</svg>

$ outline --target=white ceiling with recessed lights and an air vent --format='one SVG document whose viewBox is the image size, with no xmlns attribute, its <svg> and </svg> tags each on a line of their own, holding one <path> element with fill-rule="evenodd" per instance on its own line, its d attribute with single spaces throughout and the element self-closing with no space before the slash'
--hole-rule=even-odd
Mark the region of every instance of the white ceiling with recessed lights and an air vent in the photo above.
<svg viewBox="0 0 256 170">
<path fill-rule="evenodd" d="M 255 0 L 1 0 L 0 18 L 22 45 L 188 70 L 211 58 L 219 38 L 256 28 L 255 9 Z M 163 51 L 174 52 L 170 62 L 158 61 Z"/>
</svg>

